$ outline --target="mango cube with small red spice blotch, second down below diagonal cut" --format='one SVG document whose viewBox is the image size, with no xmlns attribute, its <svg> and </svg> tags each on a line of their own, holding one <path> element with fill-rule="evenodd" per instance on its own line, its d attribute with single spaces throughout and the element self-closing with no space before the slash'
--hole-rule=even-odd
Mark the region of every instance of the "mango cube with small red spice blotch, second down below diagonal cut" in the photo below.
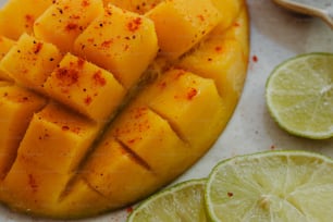
<svg viewBox="0 0 333 222">
<path fill-rule="evenodd" d="M 147 101 L 151 110 L 168 120 L 174 132 L 192 146 L 192 155 L 202 155 L 206 146 L 212 143 L 210 139 L 219 135 L 217 128 L 224 126 L 229 118 L 213 81 L 184 70 L 164 73 L 144 94 L 141 101 Z M 209 136 L 200 136 L 202 128 L 211 132 Z M 196 150 L 195 147 L 201 148 Z"/>
</svg>

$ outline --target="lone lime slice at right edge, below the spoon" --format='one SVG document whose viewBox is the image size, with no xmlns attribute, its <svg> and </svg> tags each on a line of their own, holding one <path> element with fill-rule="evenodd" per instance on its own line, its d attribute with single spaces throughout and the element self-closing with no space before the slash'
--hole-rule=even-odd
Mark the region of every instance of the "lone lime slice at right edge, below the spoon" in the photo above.
<svg viewBox="0 0 333 222">
<path fill-rule="evenodd" d="M 333 54 L 308 53 L 280 64 L 266 86 L 271 115 L 288 133 L 333 136 Z"/>
</svg>

